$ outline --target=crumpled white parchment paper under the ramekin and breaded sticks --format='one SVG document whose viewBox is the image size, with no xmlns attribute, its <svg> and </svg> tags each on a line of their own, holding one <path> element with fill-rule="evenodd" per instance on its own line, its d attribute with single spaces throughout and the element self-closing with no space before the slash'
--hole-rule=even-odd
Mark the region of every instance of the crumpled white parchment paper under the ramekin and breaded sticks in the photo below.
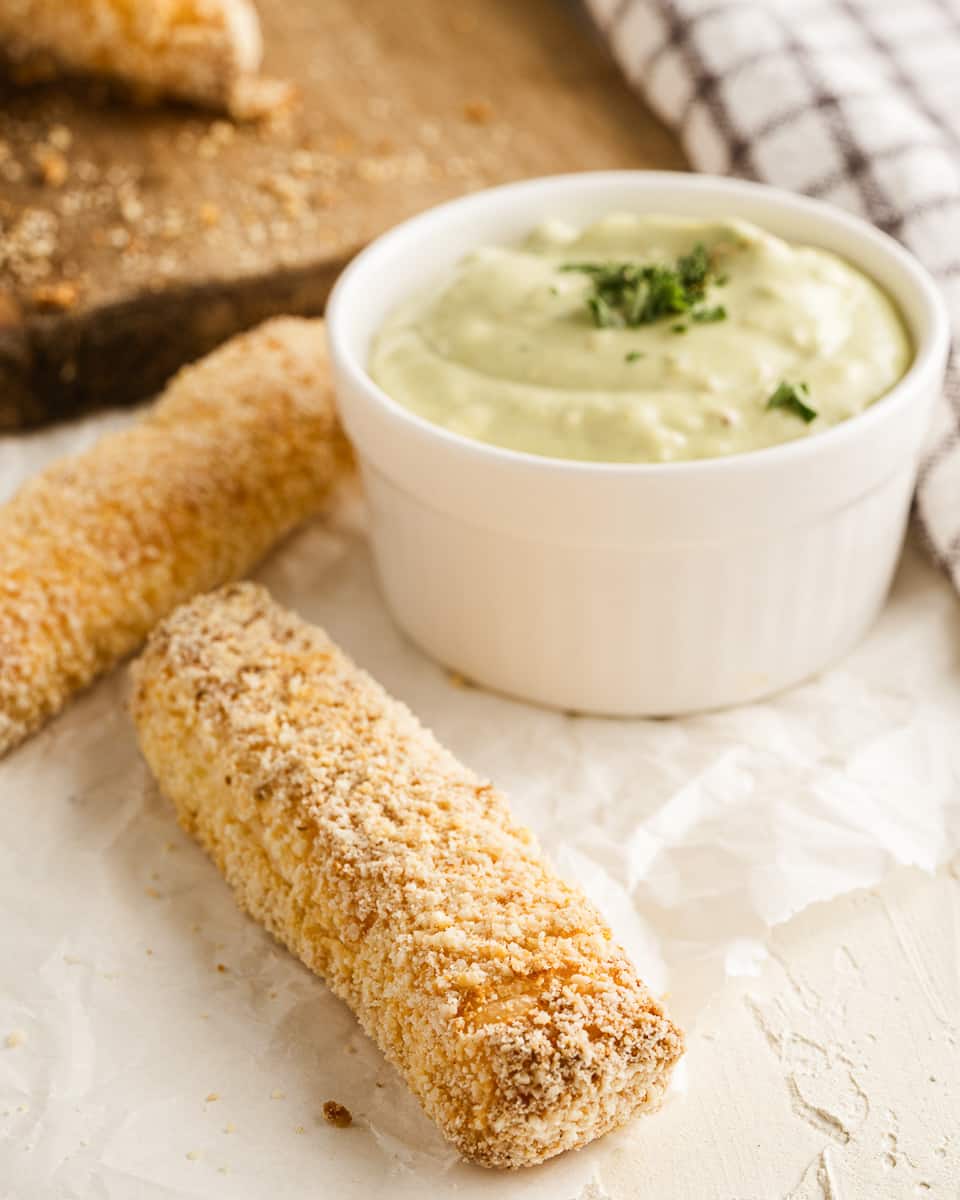
<svg viewBox="0 0 960 1200">
<path fill-rule="evenodd" d="M 122 420 L 0 439 L 0 498 Z M 835 670 L 672 721 L 563 716 L 458 685 L 392 628 L 355 499 L 258 577 L 511 793 L 684 1024 L 725 974 L 758 968 L 773 925 L 960 847 L 960 612 L 913 547 Z M 121 668 L 0 763 L 0 1198 L 635 1194 L 616 1182 L 629 1133 L 510 1176 L 461 1164 L 179 830 L 125 691 Z M 680 1073 L 668 1103 L 696 1086 Z M 323 1121 L 328 1099 L 352 1128 Z"/>
</svg>

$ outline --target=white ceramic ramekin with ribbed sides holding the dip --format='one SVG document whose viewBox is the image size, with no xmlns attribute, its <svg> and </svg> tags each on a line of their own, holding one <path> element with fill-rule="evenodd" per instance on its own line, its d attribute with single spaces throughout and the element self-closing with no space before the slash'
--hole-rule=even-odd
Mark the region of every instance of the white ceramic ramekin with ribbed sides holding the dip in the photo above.
<svg viewBox="0 0 960 1200">
<path fill-rule="evenodd" d="M 739 216 L 844 256 L 899 304 L 912 367 L 823 433 L 650 464 L 472 442 L 370 378 L 386 314 L 468 251 L 518 240 L 545 218 L 583 224 L 616 210 Z M 618 715 L 742 703 L 820 671 L 864 634 L 898 560 L 948 347 L 932 281 L 876 229 L 756 184 L 658 172 L 538 179 L 414 217 L 347 268 L 328 331 L 400 626 L 476 683 Z"/>
</svg>

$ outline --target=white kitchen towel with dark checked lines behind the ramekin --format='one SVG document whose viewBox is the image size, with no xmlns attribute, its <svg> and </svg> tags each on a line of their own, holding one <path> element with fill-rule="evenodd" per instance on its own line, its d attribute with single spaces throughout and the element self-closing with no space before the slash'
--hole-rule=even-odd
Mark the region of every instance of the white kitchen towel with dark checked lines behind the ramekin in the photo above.
<svg viewBox="0 0 960 1200">
<path fill-rule="evenodd" d="M 587 0 L 691 164 L 805 192 L 898 238 L 960 328 L 960 0 Z M 960 365 L 917 514 L 960 588 Z"/>
</svg>

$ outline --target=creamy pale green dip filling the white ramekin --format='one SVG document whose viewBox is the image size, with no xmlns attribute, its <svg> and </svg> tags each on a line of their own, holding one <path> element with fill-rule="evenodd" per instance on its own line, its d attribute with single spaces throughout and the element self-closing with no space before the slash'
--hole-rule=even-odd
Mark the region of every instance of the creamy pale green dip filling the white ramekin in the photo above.
<svg viewBox="0 0 960 1200">
<path fill-rule="evenodd" d="M 827 430 L 911 358 L 890 299 L 835 254 L 745 221 L 617 214 L 469 254 L 390 314 L 370 373 L 463 437 L 676 462 Z"/>
</svg>

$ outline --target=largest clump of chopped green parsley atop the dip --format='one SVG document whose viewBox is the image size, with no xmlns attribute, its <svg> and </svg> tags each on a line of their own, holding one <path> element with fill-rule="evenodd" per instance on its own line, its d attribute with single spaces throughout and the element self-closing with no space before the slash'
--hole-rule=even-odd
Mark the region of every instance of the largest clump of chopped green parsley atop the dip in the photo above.
<svg viewBox="0 0 960 1200">
<path fill-rule="evenodd" d="M 577 271 L 592 280 L 593 292 L 587 296 L 587 307 L 598 329 L 634 329 L 684 313 L 703 322 L 726 317 L 720 305 L 702 307 L 714 276 L 707 248 L 700 241 L 689 254 L 682 254 L 674 266 L 564 263 L 560 270 Z"/>
</svg>

